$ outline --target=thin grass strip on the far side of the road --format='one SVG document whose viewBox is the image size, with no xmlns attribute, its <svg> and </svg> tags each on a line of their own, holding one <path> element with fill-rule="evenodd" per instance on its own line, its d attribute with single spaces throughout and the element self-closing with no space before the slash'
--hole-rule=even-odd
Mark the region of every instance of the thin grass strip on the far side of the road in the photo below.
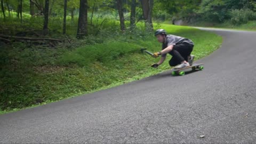
<svg viewBox="0 0 256 144">
<path fill-rule="evenodd" d="M 227 28 L 227 29 L 238 29 L 238 30 L 256 30 L 256 21 L 249 21 L 242 25 L 233 25 L 230 22 L 224 23 L 212 23 L 212 22 L 197 22 L 193 23 L 190 26 L 199 26 L 199 27 L 212 27 L 212 28 Z"/>
</svg>

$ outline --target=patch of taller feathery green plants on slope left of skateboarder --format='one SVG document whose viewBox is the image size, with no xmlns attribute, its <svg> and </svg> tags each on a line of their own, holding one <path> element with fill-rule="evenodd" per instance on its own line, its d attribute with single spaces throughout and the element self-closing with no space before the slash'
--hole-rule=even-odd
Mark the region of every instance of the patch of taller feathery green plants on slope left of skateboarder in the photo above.
<svg viewBox="0 0 256 144">
<path fill-rule="evenodd" d="M 125 54 L 138 52 L 139 46 L 127 42 L 109 42 L 96 45 L 87 45 L 77 48 L 75 51 L 67 52 L 60 58 L 60 65 L 89 66 L 92 62 L 99 61 L 108 63 Z"/>
</svg>

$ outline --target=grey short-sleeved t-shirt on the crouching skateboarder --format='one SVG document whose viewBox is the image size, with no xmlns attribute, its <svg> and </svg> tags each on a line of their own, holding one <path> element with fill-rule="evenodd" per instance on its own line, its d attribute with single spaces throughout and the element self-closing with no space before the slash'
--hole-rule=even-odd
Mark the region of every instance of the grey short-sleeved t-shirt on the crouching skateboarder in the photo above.
<svg viewBox="0 0 256 144">
<path fill-rule="evenodd" d="M 185 37 L 175 36 L 175 35 L 167 35 L 165 43 L 162 44 L 162 50 L 164 50 L 167 46 L 170 45 L 177 45 L 181 43 L 189 43 L 191 45 L 194 45 L 194 43 Z M 163 54 L 162 57 L 165 57 L 166 54 Z"/>
</svg>

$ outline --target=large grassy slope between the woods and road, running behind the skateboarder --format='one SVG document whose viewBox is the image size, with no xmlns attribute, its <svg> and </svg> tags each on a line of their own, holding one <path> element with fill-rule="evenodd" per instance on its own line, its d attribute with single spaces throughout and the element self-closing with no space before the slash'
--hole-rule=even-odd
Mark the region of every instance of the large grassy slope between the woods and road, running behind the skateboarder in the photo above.
<svg viewBox="0 0 256 144">
<path fill-rule="evenodd" d="M 194 28 L 164 24 L 161 28 L 166 29 L 169 34 L 192 39 L 195 42 L 193 54 L 196 59 L 218 49 L 222 42 L 220 36 Z M 13 69 L 7 67 L 7 71 L 4 71 L 5 68 L 1 71 L 3 79 L 0 82 L 0 108 L 3 111 L 0 113 L 107 89 L 170 69 L 168 62 L 159 69 L 150 68 L 158 59 L 141 54 L 141 47 L 155 52 L 161 49 L 161 44 L 153 35 L 143 38 L 130 35 L 103 44 L 78 47 L 72 51 L 60 52 L 63 50 L 57 49 L 31 52 L 25 49 L 25 52 L 20 53 L 21 57 L 34 56 L 21 59 Z M 17 51 L 9 51 L 9 56 L 15 57 L 15 52 Z M 61 56 L 52 59 L 58 53 Z M 4 56 L 7 53 L 1 54 Z M 52 65 L 42 66 L 43 58 L 49 58 Z M 170 58 L 168 55 L 167 59 Z M 12 65 L 15 62 L 17 61 L 14 59 Z M 33 65 L 27 65 L 28 62 Z M 21 69 L 22 66 L 26 66 L 26 69 Z M 19 73 L 22 73 L 22 77 Z"/>
</svg>

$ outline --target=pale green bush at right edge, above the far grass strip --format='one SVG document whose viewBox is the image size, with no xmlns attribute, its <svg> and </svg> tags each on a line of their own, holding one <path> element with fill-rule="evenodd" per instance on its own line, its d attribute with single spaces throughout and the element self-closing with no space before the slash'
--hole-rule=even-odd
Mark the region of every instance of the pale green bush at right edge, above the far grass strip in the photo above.
<svg viewBox="0 0 256 144">
<path fill-rule="evenodd" d="M 256 20 L 256 13 L 250 9 L 236 9 L 230 11 L 230 21 L 234 25 L 241 25 L 247 23 L 249 20 Z"/>
</svg>

